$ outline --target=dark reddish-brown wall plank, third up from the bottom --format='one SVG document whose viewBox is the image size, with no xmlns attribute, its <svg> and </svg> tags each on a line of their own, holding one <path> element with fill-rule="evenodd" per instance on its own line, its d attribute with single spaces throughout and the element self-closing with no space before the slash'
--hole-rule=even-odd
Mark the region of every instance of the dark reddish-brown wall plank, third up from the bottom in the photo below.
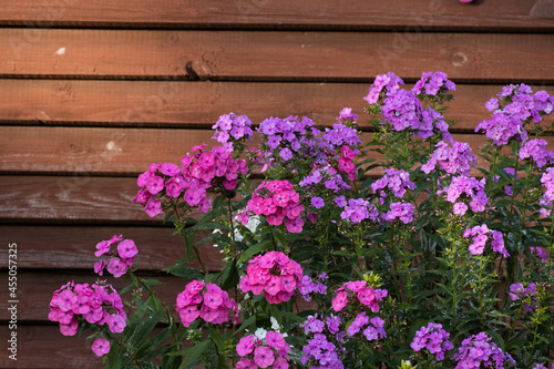
<svg viewBox="0 0 554 369">
<path fill-rule="evenodd" d="M 135 207 L 129 205 L 130 207 Z M 136 205 L 140 207 L 140 205 Z M 2 225 L 0 233 L 9 243 L 18 245 L 19 269 L 84 269 L 92 273 L 95 246 L 113 235 L 133 239 L 138 248 L 140 270 L 157 271 L 185 257 L 184 240 L 173 236 L 172 227 L 86 227 L 86 226 L 24 226 Z M 209 232 L 198 234 L 196 240 Z M 197 245 L 208 270 L 220 270 L 225 265 L 213 244 Z M 0 268 L 8 268 L 8 248 L 0 249 Z M 189 266 L 199 268 L 197 260 Z"/>
</svg>

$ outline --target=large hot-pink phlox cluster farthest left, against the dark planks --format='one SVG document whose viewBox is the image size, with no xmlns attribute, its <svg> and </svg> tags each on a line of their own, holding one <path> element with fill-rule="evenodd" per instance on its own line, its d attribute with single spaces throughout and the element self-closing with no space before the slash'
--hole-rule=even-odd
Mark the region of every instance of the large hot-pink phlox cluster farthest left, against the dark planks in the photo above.
<svg viewBox="0 0 554 369">
<path fill-rule="evenodd" d="M 126 327 L 127 315 L 112 285 L 98 281 L 89 286 L 70 281 L 54 291 L 48 318 L 60 322 L 62 335 L 74 336 L 80 318 L 91 325 L 107 325 L 112 332 L 121 334 Z"/>
</svg>

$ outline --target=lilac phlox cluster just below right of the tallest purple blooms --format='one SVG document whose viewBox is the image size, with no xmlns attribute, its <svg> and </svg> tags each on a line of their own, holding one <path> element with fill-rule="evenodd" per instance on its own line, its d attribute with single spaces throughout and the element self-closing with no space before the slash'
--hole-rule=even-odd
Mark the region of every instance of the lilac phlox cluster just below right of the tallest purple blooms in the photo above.
<svg viewBox="0 0 554 369">
<path fill-rule="evenodd" d="M 470 175 L 471 167 L 476 165 L 476 156 L 471 154 L 466 142 L 441 141 L 437 145 L 431 160 L 421 165 L 421 171 L 429 174 L 437 165 L 449 174 Z"/>
</svg>

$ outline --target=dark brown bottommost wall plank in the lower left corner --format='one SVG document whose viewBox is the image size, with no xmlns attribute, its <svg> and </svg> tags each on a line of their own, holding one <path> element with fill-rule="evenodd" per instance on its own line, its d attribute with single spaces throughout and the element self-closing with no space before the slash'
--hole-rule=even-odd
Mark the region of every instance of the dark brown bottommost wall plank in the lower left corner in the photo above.
<svg viewBox="0 0 554 369">
<path fill-rule="evenodd" d="M 2 342 L 8 340 L 9 329 L 2 329 Z M 91 350 L 91 340 L 84 337 L 65 337 L 54 326 L 18 325 L 17 361 L 8 353 L 0 357 L 0 368 L 44 369 L 102 369 L 102 359 Z M 6 345 L 4 345 L 6 347 Z"/>
</svg>

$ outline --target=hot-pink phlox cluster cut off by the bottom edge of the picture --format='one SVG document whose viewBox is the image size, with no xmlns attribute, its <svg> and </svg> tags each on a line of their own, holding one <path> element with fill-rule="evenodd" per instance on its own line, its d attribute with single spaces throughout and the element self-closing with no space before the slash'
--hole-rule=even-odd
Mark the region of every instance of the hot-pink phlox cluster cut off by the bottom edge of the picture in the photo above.
<svg viewBox="0 0 554 369">
<path fill-rule="evenodd" d="M 236 369 L 274 368 L 288 369 L 288 352 L 290 345 L 285 341 L 278 331 L 268 330 L 265 344 L 254 335 L 240 338 L 237 344 L 237 353 L 242 359 Z"/>
</svg>

